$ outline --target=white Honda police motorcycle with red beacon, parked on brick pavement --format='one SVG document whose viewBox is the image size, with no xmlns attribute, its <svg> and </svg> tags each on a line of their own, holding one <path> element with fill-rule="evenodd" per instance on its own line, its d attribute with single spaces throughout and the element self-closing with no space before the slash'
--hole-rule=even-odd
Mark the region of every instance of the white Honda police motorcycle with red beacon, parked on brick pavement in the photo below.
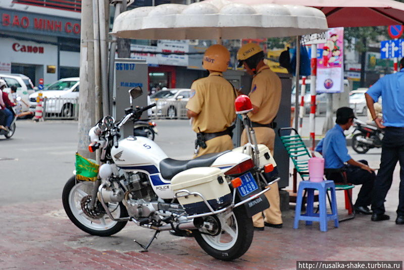
<svg viewBox="0 0 404 270">
<path fill-rule="evenodd" d="M 133 99 L 142 93 L 130 90 Z M 249 98 L 240 96 L 236 109 L 248 130 L 249 143 L 232 151 L 193 160 L 167 157 L 144 137 L 119 140 L 120 127 L 136 120 L 144 108 L 127 108 L 115 122 L 106 116 L 89 131 L 89 149 L 100 149 L 97 180 L 72 177 L 63 190 L 63 206 L 81 230 L 109 236 L 128 221 L 155 230 L 144 250 L 161 231 L 191 231 L 209 255 L 232 260 L 249 248 L 254 234 L 251 217 L 269 207 L 264 192 L 279 180 L 276 163 L 264 145 L 257 145 L 246 115 Z"/>
</svg>

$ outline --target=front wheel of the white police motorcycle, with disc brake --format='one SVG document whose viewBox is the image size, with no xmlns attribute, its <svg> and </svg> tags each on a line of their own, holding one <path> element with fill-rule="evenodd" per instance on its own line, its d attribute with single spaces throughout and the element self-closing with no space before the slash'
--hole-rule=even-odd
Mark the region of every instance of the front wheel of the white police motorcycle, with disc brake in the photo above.
<svg viewBox="0 0 404 270">
<path fill-rule="evenodd" d="M 88 209 L 93 185 L 94 182 L 77 181 L 76 177 L 72 176 L 63 188 L 63 208 L 74 225 L 86 233 L 97 236 L 116 234 L 125 227 L 127 221 L 111 220 L 99 201 L 95 209 Z M 114 218 L 128 216 L 122 203 L 108 203 L 108 209 Z"/>
</svg>

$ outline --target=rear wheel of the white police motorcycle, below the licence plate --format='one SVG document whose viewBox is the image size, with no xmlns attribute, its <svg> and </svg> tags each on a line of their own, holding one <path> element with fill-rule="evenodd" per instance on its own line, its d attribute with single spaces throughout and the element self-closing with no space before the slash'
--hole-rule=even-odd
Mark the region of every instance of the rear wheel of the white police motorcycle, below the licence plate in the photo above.
<svg viewBox="0 0 404 270">
<path fill-rule="evenodd" d="M 220 222 L 218 232 L 210 235 L 194 230 L 196 242 L 205 252 L 220 260 L 233 260 L 242 256 L 254 236 L 252 219 L 246 216 L 245 209 L 241 206 L 232 212 L 218 214 L 215 220 Z"/>
</svg>

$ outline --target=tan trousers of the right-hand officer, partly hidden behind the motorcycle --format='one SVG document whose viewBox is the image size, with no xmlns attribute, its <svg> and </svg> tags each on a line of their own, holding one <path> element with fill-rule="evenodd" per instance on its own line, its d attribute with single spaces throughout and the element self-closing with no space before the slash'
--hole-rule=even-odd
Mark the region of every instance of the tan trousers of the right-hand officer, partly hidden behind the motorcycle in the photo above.
<svg viewBox="0 0 404 270">
<path fill-rule="evenodd" d="M 271 150 L 271 154 L 273 155 L 275 145 L 275 131 L 272 128 L 265 126 L 254 127 L 254 131 L 256 132 L 257 143 L 266 145 L 269 150 Z M 241 145 L 245 145 L 247 142 L 248 138 L 244 129 L 241 134 Z M 282 213 L 280 210 L 279 187 L 277 182 L 271 185 L 271 189 L 265 192 L 265 196 L 269 201 L 270 207 L 263 212 L 265 218 L 263 218 L 262 213 L 258 213 L 252 216 L 254 227 L 262 228 L 264 227 L 264 222 L 275 225 L 283 223 Z"/>
</svg>

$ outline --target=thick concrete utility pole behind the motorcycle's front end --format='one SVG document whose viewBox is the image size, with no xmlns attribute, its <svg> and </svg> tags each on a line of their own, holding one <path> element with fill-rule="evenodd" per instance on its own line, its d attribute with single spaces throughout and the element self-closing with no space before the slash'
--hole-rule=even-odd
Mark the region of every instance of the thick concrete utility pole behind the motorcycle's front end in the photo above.
<svg viewBox="0 0 404 270">
<path fill-rule="evenodd" d="M 81 2 L 79 141 L 77 150 L 80 155 L 94 159 L 95 154 L 88 152 L 88 130 L 95 123 L 94 34 L 91 4 L 91 0 L 82 0 Z"/>
</svg>

